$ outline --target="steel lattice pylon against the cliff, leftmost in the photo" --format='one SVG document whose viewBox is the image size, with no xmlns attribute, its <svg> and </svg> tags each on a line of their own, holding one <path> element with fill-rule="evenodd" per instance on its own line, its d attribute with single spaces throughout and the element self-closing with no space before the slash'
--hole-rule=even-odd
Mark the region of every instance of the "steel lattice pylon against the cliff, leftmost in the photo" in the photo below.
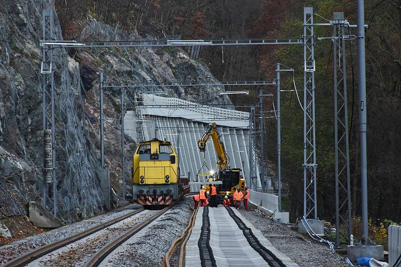
<svg viewBox="0 0 401 267">
<path fill-rule="evenodd" d="M 54 41 L 53 33 L 53 11 L 44 10 L 42 27 L 43 27 L 43 40 Z M 42 93 L 43 93 L 43 130 L 44 133 L 51 130 L 51 151 L 52 155 L 49 155 L 47 151 L 46 138 L 44 140 L 44 185 L 43 185 L 43 206 L 50 211 L 53 210 L 53 214 L 57 214 L 57 177 L 56 177 L 56 132 L 55 132 L 55 115 L 54 115 L 54 47 L 53 45 L 42 47 Z M 49 157 L 49 158 L 48 158 Z M 51 157 L 51 163 L 50 163 Z M 46 178 L 47 177 L 47 178 Z M 48 188 L 50 183 L 53 182 L 53 200 L 49 197 Z M 50 190 L 49 190 L 50 191 Z"/>
</svg>

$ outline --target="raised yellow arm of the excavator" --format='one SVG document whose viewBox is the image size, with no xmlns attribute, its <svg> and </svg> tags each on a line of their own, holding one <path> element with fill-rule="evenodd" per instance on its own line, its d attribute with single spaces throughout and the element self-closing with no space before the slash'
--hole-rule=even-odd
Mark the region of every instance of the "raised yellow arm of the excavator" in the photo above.
<svg viewBox="0 0 401 267">
<path fill-rule="evenodd" d="M 215 146 L 216 155 L 219 159 L 217 161 L 219 169 L 222 170 L 229 168 L 229 157 L 227 156 L 223 142 L 220 140 L 220 135 L 215 122 L 209 123 L 209 127 L 206 130 L 205 134 L 202 136 L 201 139 L 199 139 L 199 141 L 197 141 L 200 152 L 206 151 L 206 142 L 208 142 L 209 138 L 211 137 L 213 140 L 213 145 Z"/>
</svg>

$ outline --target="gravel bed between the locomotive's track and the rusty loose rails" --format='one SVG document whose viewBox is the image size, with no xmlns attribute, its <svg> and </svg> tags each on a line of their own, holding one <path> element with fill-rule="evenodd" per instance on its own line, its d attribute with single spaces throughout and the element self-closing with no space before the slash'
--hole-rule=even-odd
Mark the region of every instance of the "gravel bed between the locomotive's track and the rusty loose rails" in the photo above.
<svg viewBox="0 0 401 267">
<path fill-rule="evenodd" d="M 188 196 L 109 254 L 100 266 L 161 266 L 172 242 L 188 225 L 193 203 Z"/>
</svg>

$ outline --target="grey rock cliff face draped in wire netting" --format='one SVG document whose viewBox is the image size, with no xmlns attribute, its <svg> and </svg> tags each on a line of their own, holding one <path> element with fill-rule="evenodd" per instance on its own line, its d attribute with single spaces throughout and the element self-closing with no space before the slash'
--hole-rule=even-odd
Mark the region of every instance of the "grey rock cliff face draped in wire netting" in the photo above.
<svg viewBox="0 0 401 267">
<path fill-rule="evenodd" d="M 0 198 L 0 205 L 16 202 L 13 198 L 21 203 L 41 201 L 43 115 L 39 41 L 42 10 L 46 8 L 54 10 L 54 4 L 44 0 L 5 0 L 0 4 L 0 179 L 4 179 L 2 190 L 7 191 Z M 54 18 L 54 30 L 61 40 L 57 15 Z M 87 23 L 89 30 L 81 39 L 118 40 L 127 36 L 107 26 L 98 31 L 100 24 L 93 20 Z M 140 37 L 132 34 L 129 39 Z M 67 222 L 104 210 L 104 197 L 95 175 L 100 158 L 99 72 L 104 72 L 106 81 L 214 80 L 205 64 L 189 59 L 177 48 L 56 49 L 55 64 L 58 216 Z M 230 103 L 220 96 L 223 90 L 130 88 L 125 102 L 132 106 L 135 92 L 166 91 L 170 97 L 202 104 Z M 121 194 L 120 90 L 106 90 L 104 101 L 106 167 L 110 169 L 114 191 Z M 125 139 L 125 177 L 129 185 L 129 159 L 136 144 L 128 136 Z M 16 207 L 0 217 L 23 213 L 21 207 Z"/>
</svg>

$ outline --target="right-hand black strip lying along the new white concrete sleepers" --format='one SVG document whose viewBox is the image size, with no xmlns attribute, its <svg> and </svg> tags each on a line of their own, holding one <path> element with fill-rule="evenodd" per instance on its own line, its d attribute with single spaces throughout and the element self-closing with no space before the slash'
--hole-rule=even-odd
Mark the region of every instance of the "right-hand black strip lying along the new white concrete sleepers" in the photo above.
<svg viewBox="0 0 401 267">
<path fill-rule="evenodd" d="M 249 228 L 235 213 L 234 211 L 226 207 L 227 211 L 229 212 L 230 216 L 234 219 L 237 223 L 238 227 L 243 231 L 244 236 L 247 238 L 249 244 L 253 249 L 255 249 L 269 264 L 269 266 L 282 266 L 285 267 L 286 265 L 276 256 L 274 255 L 269 249 L 264 247 L 258 240 L 258 238 L 252 232 L 252 229 Z"/>
</svg>

